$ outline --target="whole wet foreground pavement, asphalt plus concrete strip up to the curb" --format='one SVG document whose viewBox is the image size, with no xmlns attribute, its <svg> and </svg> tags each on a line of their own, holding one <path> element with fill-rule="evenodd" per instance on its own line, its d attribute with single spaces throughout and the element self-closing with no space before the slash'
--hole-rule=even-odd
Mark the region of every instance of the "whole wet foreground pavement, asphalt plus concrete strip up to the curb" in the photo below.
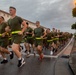
<svg viewBox="0 0 76 75">
<path fill-rule="evenodd" d="M 39 61 L 38 57 L 25 58 L 25 65 L 17 67 L 17 58 L 9 60 L 7 64 L 0 64 L 0 75 L 73 75 L 68 59 L 65 58 L 44 58 Z"/>
</svg>

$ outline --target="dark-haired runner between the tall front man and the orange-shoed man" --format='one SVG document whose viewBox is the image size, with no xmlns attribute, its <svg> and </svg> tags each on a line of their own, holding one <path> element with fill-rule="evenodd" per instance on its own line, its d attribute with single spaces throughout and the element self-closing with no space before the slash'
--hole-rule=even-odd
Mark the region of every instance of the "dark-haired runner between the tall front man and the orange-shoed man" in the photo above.
<svg viewBox="0 0 76 75">
<path fill-rule="evenodd" d="M 32 37 L 32 34 L 33 34 L 33 29 L 31 27 L 29 27 L 29 23 L 27 22 L 27 29 L 25 30 L 25 34 L 26 34 L 26 41 L 25 41 L 25 48 L 27 51 L 27 55 L 26 57 L 29 57 L 30 56 L 30 45 L 32 46 L 33 45 L 33 37 Z M 32 46 L 33 47 L 33 46 Z"/>
</svg>

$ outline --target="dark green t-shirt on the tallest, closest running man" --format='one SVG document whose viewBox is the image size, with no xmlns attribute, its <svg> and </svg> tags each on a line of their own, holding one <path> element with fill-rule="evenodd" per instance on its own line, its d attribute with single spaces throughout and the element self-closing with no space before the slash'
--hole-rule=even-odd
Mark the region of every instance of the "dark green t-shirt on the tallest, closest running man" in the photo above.
<svg viewBox="0 0 76 75">
<path fill-rule="evenodd" d="M 20 31 L 22 22 L 23 20 L 20 17 L 15 16 L 13 19 L 9 19 L 7 23 L 10 26 L 12 32 L 12 31 Z"/>
</svg>

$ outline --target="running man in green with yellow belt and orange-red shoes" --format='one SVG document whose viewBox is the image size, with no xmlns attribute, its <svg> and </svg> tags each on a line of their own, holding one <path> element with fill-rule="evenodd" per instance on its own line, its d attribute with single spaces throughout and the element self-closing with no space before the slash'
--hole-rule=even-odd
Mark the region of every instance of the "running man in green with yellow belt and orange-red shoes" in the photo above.
<svg viewBox="0 0 76 75">
<path fill-rule="evenodd" d="M 43 46 L 43 37 L 45 33 L 44 29 L 40 27 L 39 21 L 36 21 L 36 26 L 37 28 L 34 29 L 34 37 L 35 37 L 34 45 L 37 48 L 38 54 L 40 55 L 39 60 L 42 60 L 43 59 L 42 46 Z"/>
</svg>

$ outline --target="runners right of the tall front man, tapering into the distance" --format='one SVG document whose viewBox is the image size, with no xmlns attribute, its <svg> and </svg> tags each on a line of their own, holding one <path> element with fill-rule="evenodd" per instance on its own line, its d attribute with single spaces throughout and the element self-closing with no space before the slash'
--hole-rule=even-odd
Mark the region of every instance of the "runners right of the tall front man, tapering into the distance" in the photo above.
<svg viewBox="0 0 76 75">
<path fill-rule="evenodd" d="M 26 57 L 30 56 L 30 45 L 32 47 L 34 56 L 36 55 L 36 51 L 38 51 L 38 54 L 40 56 L 39 60 L 42 60 L 43 49 L 50 50 L 50 55 L 54 55 L 72 37 L 71 33 L 60 32 L 60 30 L 57 30 L 55 28 L 52 28 L 52 30 L 49 28 L 44 30 L 44 28 L 40 26 L 39 21 L 36 21 L 36 27 L 37 28 L 33 30 L 27 23 L 27 29 L 24 35 L 24 45 L 26 48 L 25 53 L 27 54 Z"/>
</svg>

